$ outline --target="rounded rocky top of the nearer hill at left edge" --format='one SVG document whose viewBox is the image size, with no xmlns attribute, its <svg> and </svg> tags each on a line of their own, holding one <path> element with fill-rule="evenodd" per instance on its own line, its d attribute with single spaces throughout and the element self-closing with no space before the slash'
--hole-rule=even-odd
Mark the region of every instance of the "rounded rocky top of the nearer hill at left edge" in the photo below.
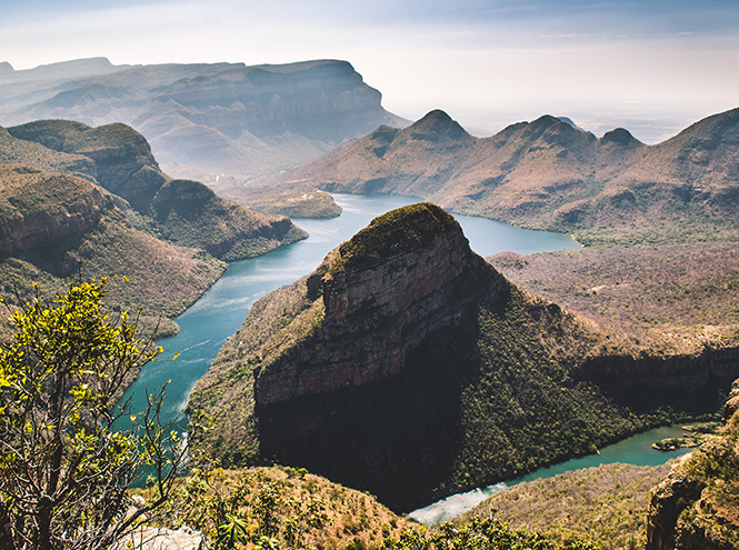
<svg viewBox="0 0 739 550">
<path fill-rule="evenodd" d="M 72 176 L 0 166 L 0 253 L 13 254 L 81 236 L 97 226 L 113 201 L 97 186 Z"/>
</svg>

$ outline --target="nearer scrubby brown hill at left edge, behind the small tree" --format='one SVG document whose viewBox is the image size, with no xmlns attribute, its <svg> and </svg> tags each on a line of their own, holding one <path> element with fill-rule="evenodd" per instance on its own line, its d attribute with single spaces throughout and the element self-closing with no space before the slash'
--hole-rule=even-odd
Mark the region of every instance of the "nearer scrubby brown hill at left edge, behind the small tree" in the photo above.
<svg viewBox="0 0 739 550">
<path fill-rule="evenodd" d="M 100 190 L 93 183 L 28 167 L 17 168 L 0 166 L 0 203 L 7 207 L 0 212 L 3 242 L 21 230 L 46 237 L 40 242 L 21 239 L 18 242 L 30 246 L 0 257 L 1 290 L 11 304 L 14 289 L 24 300 L 34 294 L 32 282 L 39 283 L 44 298 L 63 291 L 67 281 L 78 276 L 81 260 L 84 278 L 127 276 L 130 282 L 111 287 L 109 303 L 130 311 L 141 309 L 151 327 L 159 314 L 171 318 L 181 313 L 223 272 L 224 264 L 218 260 L 132 228 L 110 199 L 102 203 L 94 201 Z M 54 218 L 69 219 L 70 211 L 72 219 L 79 217 L 70 207 L 77 203 L 97 207 L 94 217 L 58 231 Z M 30 229 L 18 229 L 12 227 L 18 217 L 38 222 Z M 7 319 L 3 328 L 8 329 Z M 171 331 L 174 326 L 166 320 L 162 328 Z"/>
</svg>

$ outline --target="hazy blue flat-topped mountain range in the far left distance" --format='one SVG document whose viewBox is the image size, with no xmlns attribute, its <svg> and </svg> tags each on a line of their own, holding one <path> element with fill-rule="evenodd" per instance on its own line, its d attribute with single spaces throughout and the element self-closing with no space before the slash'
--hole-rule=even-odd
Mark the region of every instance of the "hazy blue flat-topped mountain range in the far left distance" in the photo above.
<svg viewBox="0 0 739 550">
<path fill-rule="evenodd" d="M 346 61 L 113 66 L 94 58 L 3 68 L 0 124 L 123 122 L 149 140 L 168 173 L 208 183 L 300 164 L 380 124 L 408 123 Z"/>
</svg>

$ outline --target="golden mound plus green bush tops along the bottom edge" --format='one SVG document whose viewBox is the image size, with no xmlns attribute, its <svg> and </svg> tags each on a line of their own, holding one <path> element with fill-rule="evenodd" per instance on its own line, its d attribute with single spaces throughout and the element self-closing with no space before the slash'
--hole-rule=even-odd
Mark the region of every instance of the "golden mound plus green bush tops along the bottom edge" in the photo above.
<svg viewBox="0 0 739 550">
<path fill-rule="evenodd" d="M 147 499 L 157 491 L 140 491 Z M 397 517 L 366 493 L 302 469 L 197 470 L 182 481 L 159 523 L 196 526 L 216 549 L 596 550 L 577 534 L 561 541 L 511 527 L 495 512 L 427 528 Z"/>
</svg>

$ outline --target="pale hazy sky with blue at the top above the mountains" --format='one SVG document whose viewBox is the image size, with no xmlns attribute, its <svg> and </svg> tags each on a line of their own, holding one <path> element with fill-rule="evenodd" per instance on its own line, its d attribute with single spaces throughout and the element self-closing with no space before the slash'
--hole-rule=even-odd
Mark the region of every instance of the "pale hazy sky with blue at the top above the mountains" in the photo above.
<svg viewBox="0 0 739 550">
<path fill-rule="evenodd" d="M 342 59 L 416 120 L 566 116 L 659 142 L 739 107 L 739 0 L 0 0 L 16 70 Z"/>
</svg>

